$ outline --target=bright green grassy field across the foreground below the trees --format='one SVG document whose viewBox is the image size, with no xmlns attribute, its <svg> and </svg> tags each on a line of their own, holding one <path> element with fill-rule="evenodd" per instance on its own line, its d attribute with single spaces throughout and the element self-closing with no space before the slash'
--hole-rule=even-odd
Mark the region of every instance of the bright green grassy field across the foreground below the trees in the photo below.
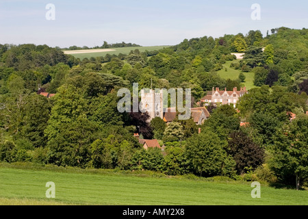
<svg viewBox="0 0 308 219">
<path fill-rule="evenodd" d="M 46 198 L 48 181 L 55 198 Z M 108 170 L 0 168 L 0 205 L 307 205 L 308 191 Z"/>
</svg>

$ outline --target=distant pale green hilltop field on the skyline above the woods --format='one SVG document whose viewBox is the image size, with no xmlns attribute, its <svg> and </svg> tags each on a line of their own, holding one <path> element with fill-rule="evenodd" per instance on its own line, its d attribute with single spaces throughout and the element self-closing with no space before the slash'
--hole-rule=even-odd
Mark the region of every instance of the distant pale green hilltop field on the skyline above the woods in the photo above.
<svg viewBox="0 0 308 219">
<path fill-rule="evenodd" d="M 159 49 L 164 49 L 169 46 L 154 46 L 154 47 L 122 47 L 122 48 L 110 48 L 114 49 L 115 51 L 106 51 L 106 52 L 101 52 L 101 53 L 81 53 L 81 54 L 73 54 L 76 58 L 79 58 L 80 60 L 83 60 L 85 57 L 90 59 L 90 57 L 100 57 L 100 56 L 105 56 L 106 54 L 110 55 L 118 55 L 119 53 L 123 53 L 128 55 L 131 50 L 139 49 L 140 52 L 144 51 L 155 51 Z"/>
</svg>

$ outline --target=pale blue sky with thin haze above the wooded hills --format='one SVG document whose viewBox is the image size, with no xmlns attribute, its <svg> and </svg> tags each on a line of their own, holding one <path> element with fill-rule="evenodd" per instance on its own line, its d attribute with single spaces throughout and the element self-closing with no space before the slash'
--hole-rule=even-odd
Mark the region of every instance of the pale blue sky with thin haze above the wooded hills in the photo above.
<svg viewBox="0 0 308 219">
<path fill-rule="evenodd" d="M 48 3 L 55 5 L 54 21 L 45 18 Z M 259 21 L 251 19 L 253 3 L 261 6 Z M 185 38 L 245 35 L 251 29 L 265 35 L 281 26 L 308 28 L 308 1 L 0 0 L 0 44 L 172 45 Z"/>
</svg>

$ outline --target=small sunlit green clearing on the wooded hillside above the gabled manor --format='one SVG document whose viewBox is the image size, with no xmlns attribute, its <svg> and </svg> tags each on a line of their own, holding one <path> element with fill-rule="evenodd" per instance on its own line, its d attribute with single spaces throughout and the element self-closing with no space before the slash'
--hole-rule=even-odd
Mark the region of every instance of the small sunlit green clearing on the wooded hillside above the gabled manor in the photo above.
<svg viewBox="0 0 308 219">
<path fill-rule="evenodd" d="M 233 61 L 227 61 L 226 63 L 222 64 L 223 68 L 221 70 L 218 70 L 218 75 L 222 77 L 223 79 L 238 79 L 238 75 L 240 75 L 241 70 L 235 70 L 234 68 L 230 68 L 231 62 L 240 62 L 240 60 L 233 60 Z M 227 68 L 227 71 L 225 70 Z M 255 73 L 249 72 L 244 73 L 246 76 L 246 79 L 244 81 L 244 86 L 247 90 L 251 88 L 256 88 L 256 86 L 253 85 L 253 79 L 255 77 Z"/>
</svg>

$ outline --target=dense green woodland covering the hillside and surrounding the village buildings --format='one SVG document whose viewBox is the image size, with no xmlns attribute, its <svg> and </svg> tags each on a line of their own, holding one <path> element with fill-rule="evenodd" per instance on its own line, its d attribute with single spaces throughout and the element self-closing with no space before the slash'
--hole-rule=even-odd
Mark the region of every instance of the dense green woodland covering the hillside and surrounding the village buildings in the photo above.
<svg viewBox="0 0 308 219">
<path fill-rule="evenodd" d="M 235 60 L 233 52 L 245 53 L 230 66 L 242 70 L 241 77 L 222 79 L 217 71 Z M 240 99 L 238 110 L 210 105 L 200 134 L 192 119 L 148 124 L 147 114 L 117 110 L 117 90 L 132 83 L 192 88 L 196 105 L 213 87 L 240 88 L 246 72 L 255 74 L 256 88 Z M 55 96 L 47 99 L 38 89 Z M 84 60 L 47 45 L 0 44 L 0 161 L 307 187 L 307 92 L 308 29 L 204 36 L 160 51 Z M 296 114 L 292 122 L 290 112 Z M 133 136 L 138 131 L 158 139 L 164 152 L 144 150 Z"/>
</svg>

